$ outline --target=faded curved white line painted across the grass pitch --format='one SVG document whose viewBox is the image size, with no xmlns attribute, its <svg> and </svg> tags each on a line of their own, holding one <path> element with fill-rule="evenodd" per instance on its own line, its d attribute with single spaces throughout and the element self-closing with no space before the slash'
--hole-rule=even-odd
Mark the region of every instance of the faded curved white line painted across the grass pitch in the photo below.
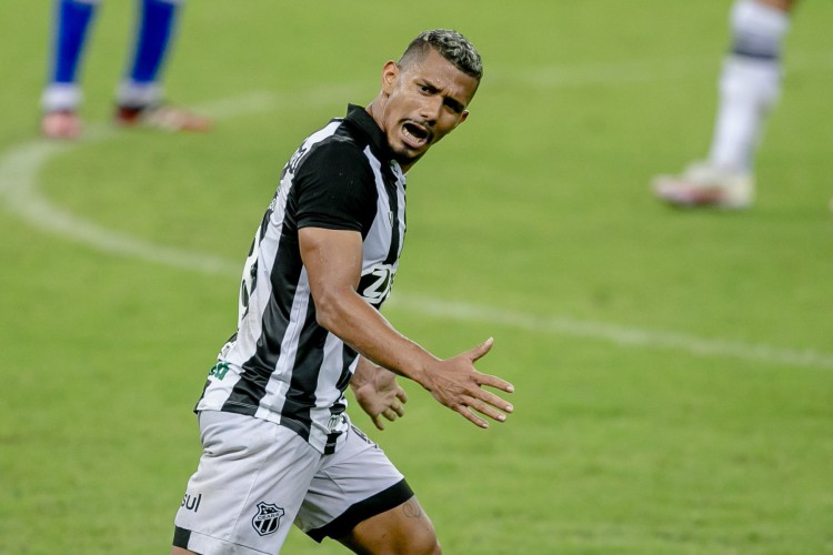
<svg viewBox="0 0 833 555">
<path fill-rule="evenodd" d="M 602 71 L 591 72 L 596 82 Z M 608 80 L 618 82 L 621 68 L 613 68 Z M 643 75 L 646 78 L 646 75 Z M 576 78 L 571 78 L 574 83 Z M 333 97 L 344 98 L 355 87 L 322 88 L 308 91 L 300 103 L 312 105 Z M 254 93 L 203 107 L 202 112 L 217 119 L 233 118 L 280 108 L 282 102 L 298 107 L 298 98 L 285 99 L 271 93 Z M 104 125 L 91 125 L 84 139 L 74 143 L 33 140 L 19 144 L 0 155 L 0 201 L 7 210 L 30 225 L 62 239 L 72 240 L 109 254 L 144 260 L 172 268 L 209 274 L 238 275 L 240 264 L 207 253 L 185 251 L 142 241 L 108 230 L 54 205 L 38 191 L 40 169 L 56 154 L 81 144 L 111 139 L 117 132 Z M 391 307 L 431 317 L 488 323 L 545 335 L 564 335 L 606 341 L 621 346 L 680 351 L 697 356 L 719 356 L 742 361 L 783 364 L 797 367 L 833 369 L 833 354 L 817 351 L 781 349 L 766 344 L 747 344 L 697 337 L 663 331 L 644 330 L 606 322 L 576 320 L 570 316 L 542 316 L 501 310 L 493 306 L 465 304 L 398 293 Z"/>
</svg>

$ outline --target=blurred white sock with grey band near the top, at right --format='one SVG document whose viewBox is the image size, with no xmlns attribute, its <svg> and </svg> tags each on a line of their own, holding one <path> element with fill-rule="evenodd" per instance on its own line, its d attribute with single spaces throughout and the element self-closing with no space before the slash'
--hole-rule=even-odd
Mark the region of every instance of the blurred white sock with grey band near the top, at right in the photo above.
<svg viewBox="0 0 833 555">
<path fill-rule="evenodd" d="M 732 52 L 720 79 L 709 161 L 751 172 L 766 115 L 781 93 L 781 46 L 790 16 L 754 0 L 737 0 L 731 22 Z"/>
</svg>

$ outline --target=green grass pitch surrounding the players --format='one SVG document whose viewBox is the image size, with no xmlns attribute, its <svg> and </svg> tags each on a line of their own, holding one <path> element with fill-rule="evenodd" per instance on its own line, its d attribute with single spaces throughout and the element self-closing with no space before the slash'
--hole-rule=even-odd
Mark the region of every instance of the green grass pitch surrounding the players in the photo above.
<svg viewBox="0 0 833 555">
<path fill-rule="evenodd" d="M 449 554 L 833 552 L 833 3 L 804 2 L 744 213 L 674 211 L 705 153 L 729 1 L 191 2 L 168 68 L 209 135 L 37 133 L 49 2 L 0 3 L 0 553 L 167 553 L 191 407 L 283 162 L 430 27 L 481 50 L 465 125 L 409 174 L 387 316 L 516 386 L 481 431 L 409 385 L 382 433 Z M 291 554 L 342 553 L 298 531 Z"/>
</svg>

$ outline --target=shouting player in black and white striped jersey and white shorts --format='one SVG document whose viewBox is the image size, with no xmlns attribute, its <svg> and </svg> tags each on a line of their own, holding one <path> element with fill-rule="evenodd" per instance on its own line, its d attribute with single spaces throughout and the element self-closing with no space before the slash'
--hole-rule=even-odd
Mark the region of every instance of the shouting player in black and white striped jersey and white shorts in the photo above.
<svg viewBox="0 0 833 555">
<path fill-rule="evenodd" d="M 301 143 L 243 268 L 237 333 L 195 411 L 203 454 L 177 513 L 172 554 L 278 553 L 292 523 L 358 553 L 436 554 L 402 474 L 345 411 L 351 385 L 377 425 L 402 415 L 409 377 L 480 427 L 513 407 L 478 372 L 492 340 L 439 359 L 379 312 L 405 235 L 405 173 L 469 117 L 480 54 L 460 33 L 421 33 Z"/>
</svg>

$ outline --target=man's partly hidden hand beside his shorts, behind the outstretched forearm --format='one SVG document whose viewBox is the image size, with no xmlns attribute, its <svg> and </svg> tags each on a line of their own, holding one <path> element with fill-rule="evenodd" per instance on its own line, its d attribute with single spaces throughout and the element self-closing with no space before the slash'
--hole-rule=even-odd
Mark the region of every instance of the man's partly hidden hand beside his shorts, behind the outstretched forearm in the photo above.
<svg viewBox="0 0 833 555">
<path fill-rule="evenodd" d="M 384 430 L 382 416 L 393 422 L 405 414 L 403 405 L 408 402 L 408 395 L 397 383 L 397 375 L 364 356 L 359 355 L 359 363 L 350 380 L 350 389 L 353 390 L 359 406 L 368 413 L 379 430 Z"/>
</svg>

